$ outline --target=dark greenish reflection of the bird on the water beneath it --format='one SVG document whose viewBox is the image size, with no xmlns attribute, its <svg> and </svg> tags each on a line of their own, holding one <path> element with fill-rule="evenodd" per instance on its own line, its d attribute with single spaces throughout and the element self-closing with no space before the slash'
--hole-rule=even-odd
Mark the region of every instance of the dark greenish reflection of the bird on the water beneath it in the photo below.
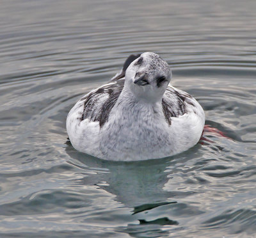
<svg viewBox="0 0 256 238">
<path fill-rule="evenodd" d="M 184 192 L 170 192 L 163 189 L 168 182 L 166 167 L 173 160 L 172 157 L 164 159 L 152 159 L 150 161 L 137 162 L 114 162 L 104 161 L 90 155 L 77 152 L 67 141 L 65 148 L 67 154 L 73 159 L 70 164 L 75 165 L 78 161 L 86 169 L 104 168 L 106 173 L 98 173 L 98 182 L 94 185 L 115 195 L 115 200 L 122 203 L 125 207 L 131 208 L 131 216 L 140 214 L 139 225 L 179 225 L 178 221 L 171 218 L 157 217 L 153 219 L 147 216 L 148 211 L 165 205 L 176 205 L 177 199 L 188 196 Z M 79 163 L 79 164 L 80 164 Z M 81 167 L 80 167 L 81 168 Z M 83 183 L 83 179 L 80 180 Z M 93 184 L 92 184 L 93 185 Z M 160 214 L 157 214 L 160 215 Z M 149 219 L 148 219 L 149 218 Z M 138 225 L 129 225 L 138 226 Z"/>
</svg>

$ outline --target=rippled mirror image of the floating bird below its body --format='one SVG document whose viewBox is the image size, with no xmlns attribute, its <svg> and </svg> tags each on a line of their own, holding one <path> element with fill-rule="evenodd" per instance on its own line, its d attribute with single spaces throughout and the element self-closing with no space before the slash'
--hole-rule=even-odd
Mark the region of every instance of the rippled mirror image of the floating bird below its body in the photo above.
<svg viewBox="0 0 256 238">
<path fill-rule="evenodd" d="M 177 173 L 174 164 L 178 161 L 185 163 L 191 159 L 190 154 L 186 157 L 177 155 L 176 159 L 172 158 L 172 162 L 170 158 L 165 158 L 116 163 L 79 153 L 74 150 L 70 141 L 67 141 L 65 151 L 70 156 L 70 164 L 83 170 L 79 173 L 81 176 L 72 180 L 74 184 L 94 187 L 93 189 L 97 186 L 97 206 L 102 207 L 101 203 L 107 201 L 109 205 L 102 219 L 119 216 L 121 209 L 120 219 L 124 223 L 129 222 L 126 228 L 122 226 L 121 229 L 125 229 L 131 237 L 138 237 L 136 230 L 140 232 L 145 225 L 154 225 L 154 232 L 163 235 L 161 226 L 179 224 L 179 213 L 176 214 L 175 211 L 179 210 L 183 214 L 184 210 L 195 210 L 189 204 L 179 203 L 181 198 L 187 197 L 191 192 L 173 189 L 168 183 L 168 180 L 173 179 L 168 175 Z M 94 219 L 98 211 L 99 209 L 92 211 L 90 217 Z"/>
</svg>

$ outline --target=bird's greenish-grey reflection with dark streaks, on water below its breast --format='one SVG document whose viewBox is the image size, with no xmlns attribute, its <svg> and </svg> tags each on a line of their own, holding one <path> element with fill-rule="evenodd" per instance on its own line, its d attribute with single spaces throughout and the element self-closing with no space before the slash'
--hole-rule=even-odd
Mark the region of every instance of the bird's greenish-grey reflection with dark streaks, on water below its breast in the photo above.
<svg viewBox="0 0 256 238">
<path fill-rule="evenodd" d="M 69 164 L 84 170 L 98 171 L 91 175 L 90 184 L 87 177 L 79 179 L 76 184 L 104 189 L 115 195 L 116 202 L 132 209 L 130 212 L 132 223 L 128 223 L 126 227 L 120 226 L 116 231 L 135 237 L 166 236 L 170 231 L 163 230 L 164 226 L 174 225 L 174 229 L 180 229 L 179 221 L 173 219 L 172 212 L 175 215 L 185 216 L 202 214 L 202 211 L 193 205 L 179 202 L 180 199 L 193 194 L 193 191 L 179 191 L 170 186 L 168 189 L 165 188 L 168 181 L 173 178 L 172 173 L 178 173 L 176 164 L 186 164 L 191 156 L 197 154 L 200 145 L 173 157 L 136 162 L 105 161 L 77 152 L 70 141 L 67 141 L 66 145 L 65 151 L 71 158 Z"/>
</svg>

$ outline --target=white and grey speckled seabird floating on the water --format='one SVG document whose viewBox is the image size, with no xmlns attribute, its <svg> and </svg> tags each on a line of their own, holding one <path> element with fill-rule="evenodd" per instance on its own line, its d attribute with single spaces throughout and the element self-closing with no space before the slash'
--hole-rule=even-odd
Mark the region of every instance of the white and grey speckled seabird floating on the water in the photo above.
<svg viewBox="0 0 256 238">
<path fill-rule="evenodd" d="M 71 109 L 67 132 L 77 150 L 136 161 L 178 154 L 200 139 L 204 111 L 191 95 L 168 86 L 168 63 L 152 52 L 134 58 Z"/>
</svg>

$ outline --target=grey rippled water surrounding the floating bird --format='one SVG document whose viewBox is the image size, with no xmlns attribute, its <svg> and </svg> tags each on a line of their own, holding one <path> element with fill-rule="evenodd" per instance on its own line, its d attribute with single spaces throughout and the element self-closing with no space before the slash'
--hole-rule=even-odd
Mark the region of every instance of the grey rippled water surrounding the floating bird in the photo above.
<svg viewBox="0 0 256 238">
<path fill-rule="evenodd" d="M 255 1 L 1 1 L 1 237 L 255 237 Z M 113 163 L 67 141 L 76 101 L 132 53 L 224 132 Z"/>
</svg>

